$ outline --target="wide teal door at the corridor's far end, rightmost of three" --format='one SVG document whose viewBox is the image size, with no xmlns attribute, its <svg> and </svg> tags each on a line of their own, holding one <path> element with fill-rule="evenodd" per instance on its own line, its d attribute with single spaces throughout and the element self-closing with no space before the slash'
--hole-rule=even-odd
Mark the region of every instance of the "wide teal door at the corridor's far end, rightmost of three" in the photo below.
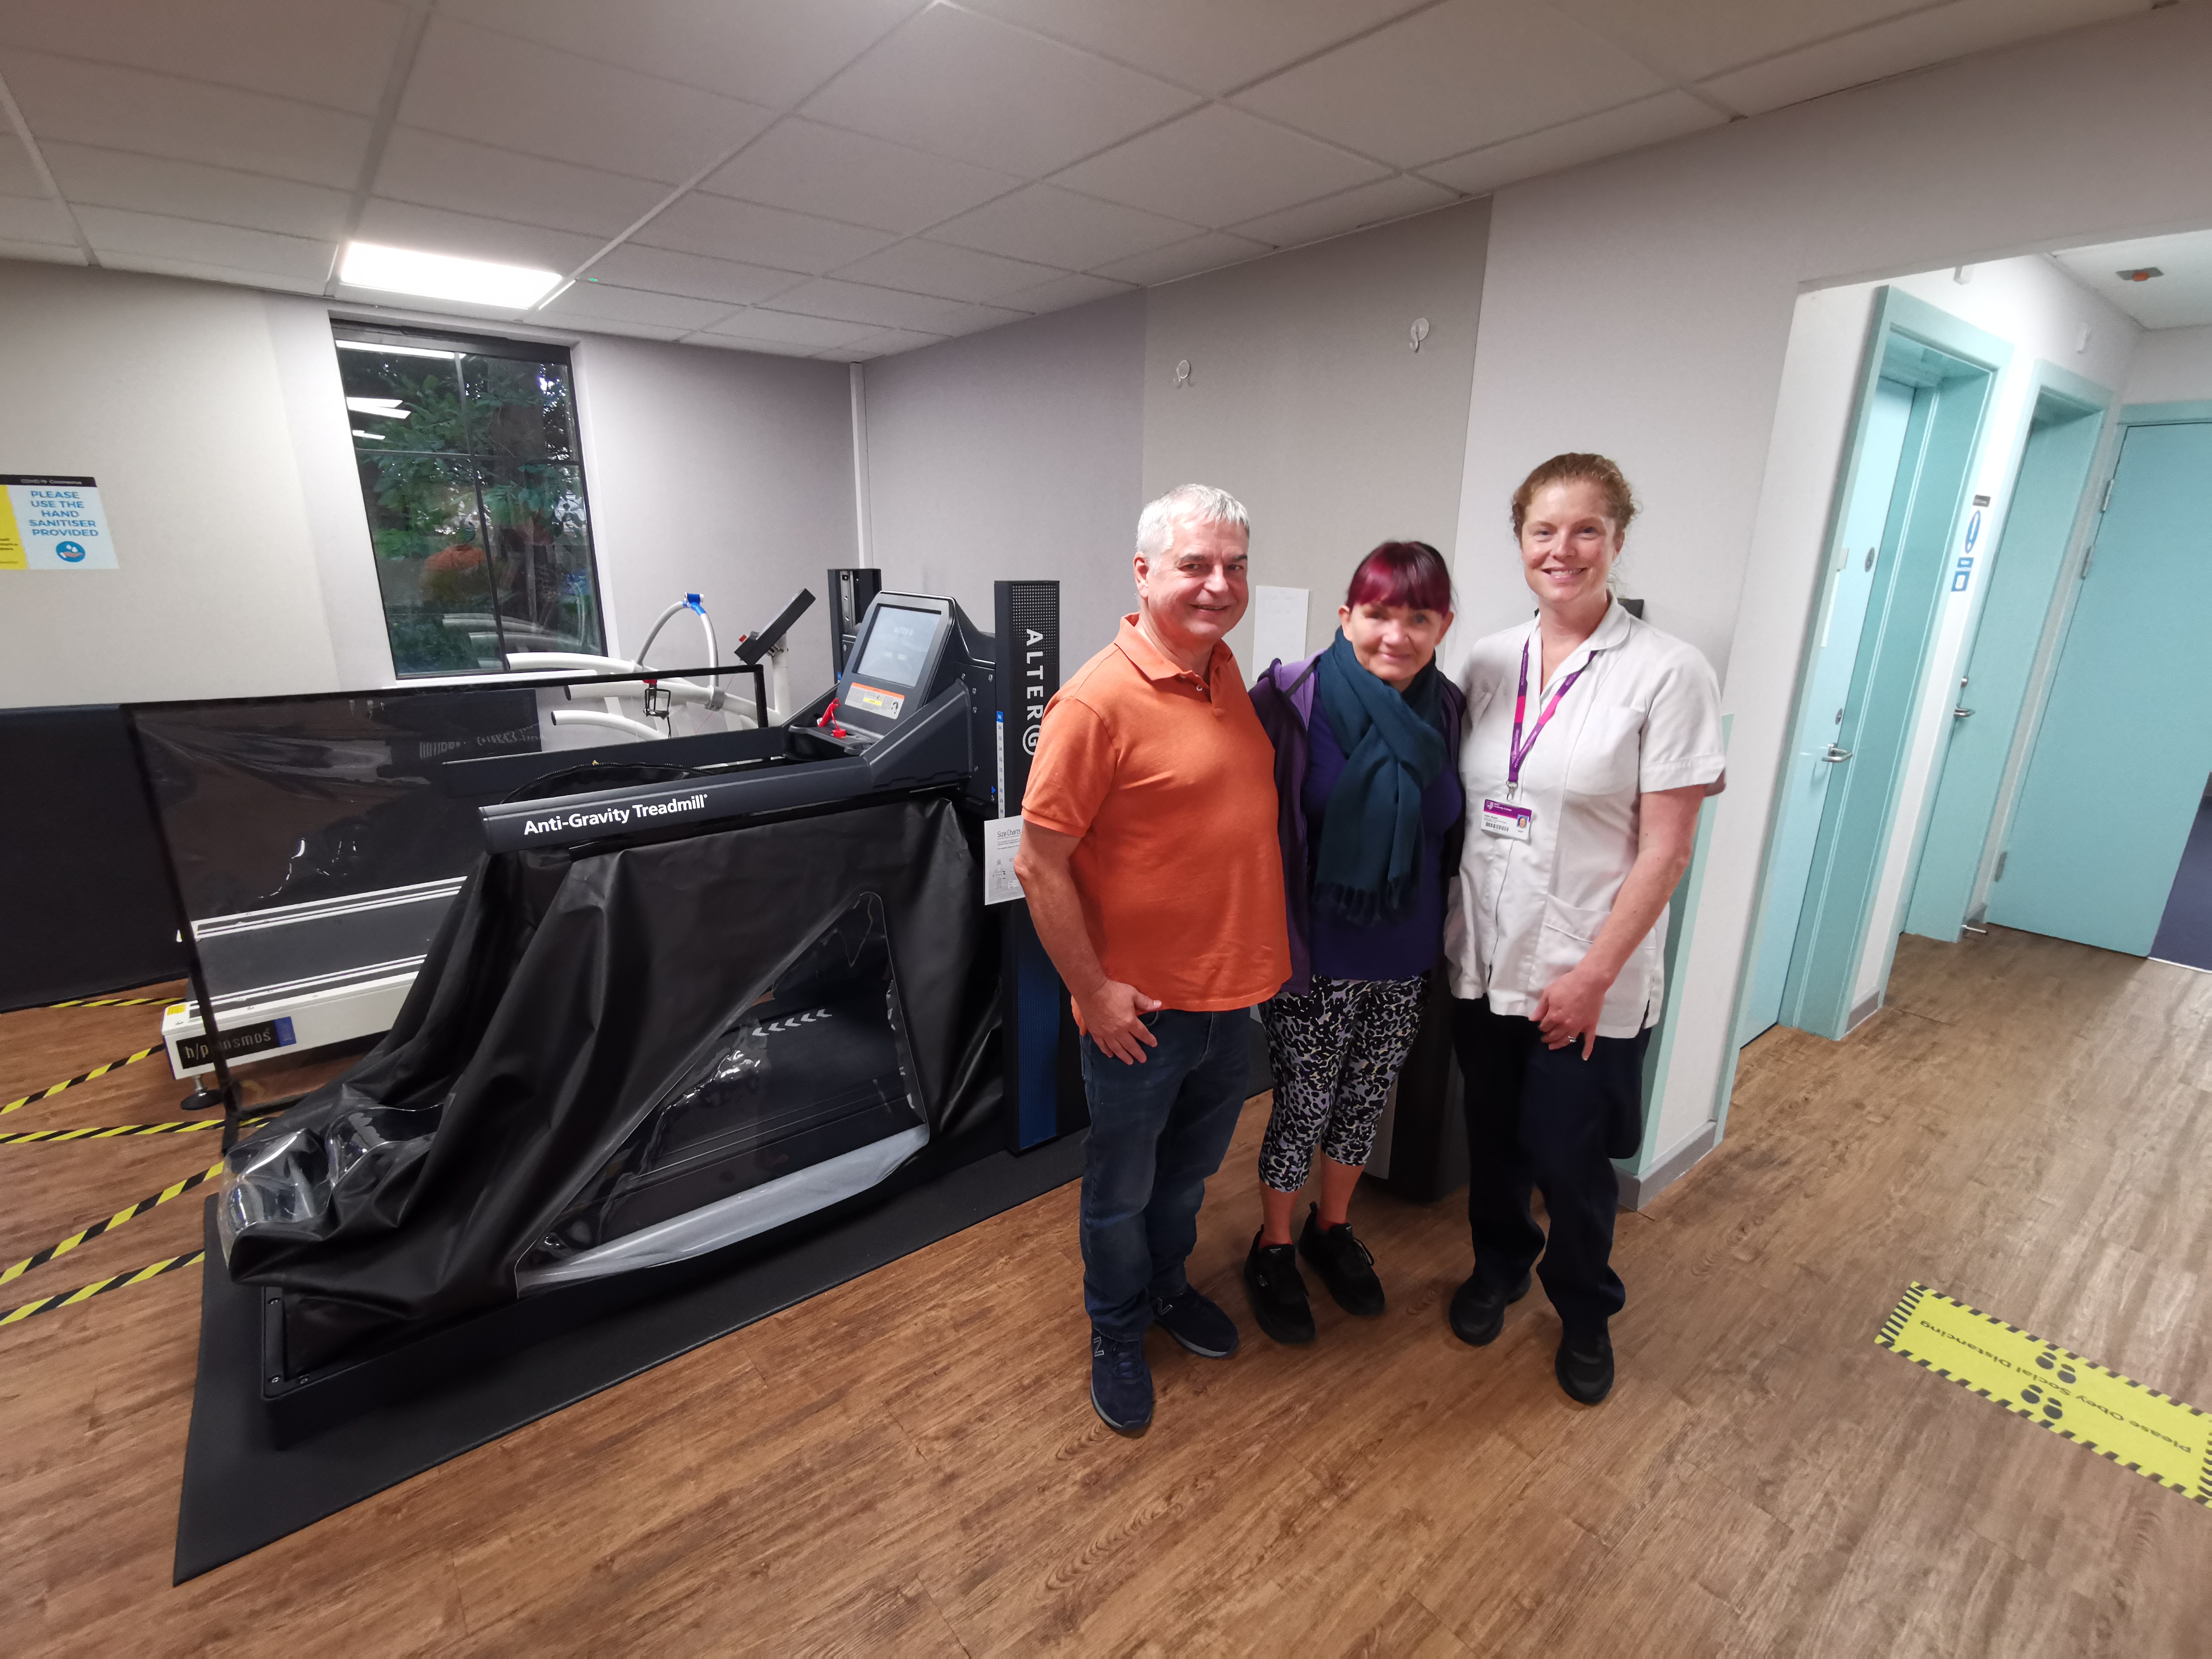
<svg viewBox="0 0 2212 1659">
<path fill-rule="evenodd" d="M 2130 427 L 1989 920 L 2146 956 L 2212 772 L 2212 422 Z"/>
</svg>

